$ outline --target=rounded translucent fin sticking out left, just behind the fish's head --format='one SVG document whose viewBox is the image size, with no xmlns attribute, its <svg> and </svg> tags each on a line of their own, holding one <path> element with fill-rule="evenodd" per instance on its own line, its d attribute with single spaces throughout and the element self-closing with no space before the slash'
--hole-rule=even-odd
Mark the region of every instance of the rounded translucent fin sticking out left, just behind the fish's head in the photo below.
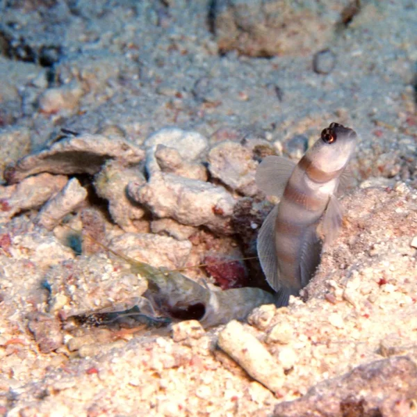
<svg viewBox="0 0 417 417">
<path fill-rule="evenodd" d="M 281 156 L 267 156 L 256 170 L 256 186 L 267 195 L 281 197 L 295 165 Z"/>
</svg>

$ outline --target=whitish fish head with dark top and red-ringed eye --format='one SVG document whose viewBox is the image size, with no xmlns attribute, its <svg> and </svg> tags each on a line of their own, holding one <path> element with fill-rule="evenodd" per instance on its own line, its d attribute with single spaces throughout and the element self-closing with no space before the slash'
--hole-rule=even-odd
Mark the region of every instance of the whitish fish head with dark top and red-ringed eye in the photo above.
<svg viewBox="0 0 417 417">
<path fill-rule="evenodd" d="M 320 139 L 309 149 L 309 158 L 323 172 L 343 170 L 354 153 L 357 133 L 349 127 L 332 123 L 322 130 Z"/>
</svg>

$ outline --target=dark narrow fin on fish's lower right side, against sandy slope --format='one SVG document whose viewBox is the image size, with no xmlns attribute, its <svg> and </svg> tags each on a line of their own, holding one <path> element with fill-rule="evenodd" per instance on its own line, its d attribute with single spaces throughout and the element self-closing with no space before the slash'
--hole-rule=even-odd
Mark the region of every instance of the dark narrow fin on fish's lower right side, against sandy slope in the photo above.
<svg viewBox="0 0 417 417">
<path fill-rule="evenodd" d="M 301 287 L 307 284 L 314 271 L 320 263 L 320 256 L 322 252 L 322 241 L 317 236 L 316 227 L 309 227 L 303 236 L 300 252 L 300 277 Z"/>
</svg>

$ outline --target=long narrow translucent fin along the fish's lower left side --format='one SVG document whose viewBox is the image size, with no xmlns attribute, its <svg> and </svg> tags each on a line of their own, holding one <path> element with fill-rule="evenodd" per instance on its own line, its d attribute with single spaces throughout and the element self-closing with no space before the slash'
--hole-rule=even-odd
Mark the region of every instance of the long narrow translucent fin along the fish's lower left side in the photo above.
<svg viewBox="0 0 417 417">
<path fill-rule="evenodd" d="M 265 218 L 256 242 L 256 250 L 266 281 L 275 291 L 278 291 L 281 286 L 279 283 L 277 250 L 275 250 L 275 219 L 277 213 L 278 206 L 275 206 Z"/>
</svg>

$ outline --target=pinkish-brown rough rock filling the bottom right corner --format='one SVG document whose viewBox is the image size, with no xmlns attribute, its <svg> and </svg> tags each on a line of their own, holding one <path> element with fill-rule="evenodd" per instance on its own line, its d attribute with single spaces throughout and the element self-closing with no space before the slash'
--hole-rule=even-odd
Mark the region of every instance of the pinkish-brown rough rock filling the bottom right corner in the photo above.
<svg viewBox="0 0 417 417">
<path fill-rule="evenodd" d="M 314 386 L 300 400 L 281 402 L 275 417 L 411 416 L 417 366 L 408 357 L 366 363 Z"/>
</svg>

